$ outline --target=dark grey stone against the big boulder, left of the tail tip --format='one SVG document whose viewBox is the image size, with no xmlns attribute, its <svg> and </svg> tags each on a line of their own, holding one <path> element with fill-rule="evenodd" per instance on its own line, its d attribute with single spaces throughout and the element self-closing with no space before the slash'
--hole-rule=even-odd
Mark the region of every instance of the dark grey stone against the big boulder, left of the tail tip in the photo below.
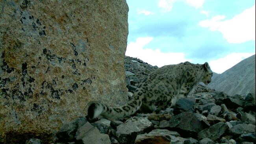
<svg viewBox="0 0 256 144">
<path fill-rule="evenodd" d="M 76 131 L 80 126 L 83 126 L 87 122 L 85 117 L 77 118 L 71 122 L 64 124 L 59 132 L 56 134 L 59 142 L 72 142 L 74 141 Z"/>
</svg>

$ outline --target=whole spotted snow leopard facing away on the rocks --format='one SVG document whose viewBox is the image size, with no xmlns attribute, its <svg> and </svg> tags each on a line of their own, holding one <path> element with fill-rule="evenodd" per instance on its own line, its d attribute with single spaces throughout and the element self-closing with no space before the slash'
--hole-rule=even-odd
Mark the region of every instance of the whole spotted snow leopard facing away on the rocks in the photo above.
<svg viewBox="0 0 256 144">
<path fill-rule="evenodd" d="M 92 103 L 88 108 L 89 119 L 102 115 L 108 119 L 121 119 L 134 114 L 137 110 L 150 113 L 155 110 L 174 106 L 182 97 L 191 95 L 199 82 L 208 85 L 212 71 L 208 63 L 166 65 L 148 75 L 138 86 L 132 99 L 119 107 L 102 103 Z"/>
</svg>

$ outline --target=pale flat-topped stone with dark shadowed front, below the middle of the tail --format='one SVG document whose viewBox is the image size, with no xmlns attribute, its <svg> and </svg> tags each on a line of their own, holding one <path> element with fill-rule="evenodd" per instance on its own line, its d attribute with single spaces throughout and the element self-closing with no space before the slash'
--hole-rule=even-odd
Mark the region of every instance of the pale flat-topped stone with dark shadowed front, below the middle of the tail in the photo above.
<svg viewBox="0 0 256 144">
<path fill-rule="evenodd" d="M 152 122 L 145 117 L 132 117 L 124 124 L 117 126 L 117 140 L 120 144 L 134 144 L 137 135 L 152 129 Z"/>
</svg>

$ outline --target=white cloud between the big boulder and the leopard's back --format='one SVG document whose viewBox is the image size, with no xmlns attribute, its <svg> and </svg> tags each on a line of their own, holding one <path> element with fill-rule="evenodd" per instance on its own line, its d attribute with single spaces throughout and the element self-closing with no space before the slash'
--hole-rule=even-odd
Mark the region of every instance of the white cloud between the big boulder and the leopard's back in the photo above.
<svg viewBox="0 0 256 144">
<path fill-rule="evenodd" d="M 139 58 L 150 65 L 162 67 L 164 65 L 178 64 L 185 61 L 191 61 L 185 58 L 184 53 L 161 52 L 160 49 L 143 49 L 153 38 L 137 38 L 135 42 L 130 42 L 126 48 L 126 56 Z"/>
</svg>

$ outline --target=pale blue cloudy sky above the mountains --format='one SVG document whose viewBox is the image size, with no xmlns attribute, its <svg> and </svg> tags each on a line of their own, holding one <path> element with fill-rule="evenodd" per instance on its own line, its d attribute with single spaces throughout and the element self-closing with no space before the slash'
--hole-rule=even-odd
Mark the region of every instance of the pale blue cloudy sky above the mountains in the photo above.
<svg viewBox="0 0 256 144">
<path fill-rule="evenodd" d="M 221 74 L 255 54 L 254 0 L 126 2 L 126 56 L 158 67 L 207 61 Z"/>
</svg>

